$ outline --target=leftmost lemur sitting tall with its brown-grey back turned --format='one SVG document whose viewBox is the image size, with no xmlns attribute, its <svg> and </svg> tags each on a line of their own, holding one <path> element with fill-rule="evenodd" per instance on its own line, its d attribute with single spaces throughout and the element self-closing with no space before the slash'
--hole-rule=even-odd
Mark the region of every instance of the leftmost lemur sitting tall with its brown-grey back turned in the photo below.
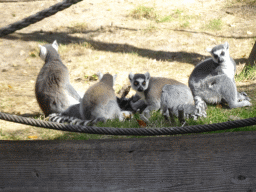
<svg viewBox="0 0 256 192">
<path fill-rule="evenodd" d="M 40 58 L 45 61 L 35 85 L 37 102 L 45 116 L 64 112 L 70 105 L 79 103 L 81 97 L 69 81 L 69 72 L 58 54 L 58 43 L 39 45 Z"/>
</svg>

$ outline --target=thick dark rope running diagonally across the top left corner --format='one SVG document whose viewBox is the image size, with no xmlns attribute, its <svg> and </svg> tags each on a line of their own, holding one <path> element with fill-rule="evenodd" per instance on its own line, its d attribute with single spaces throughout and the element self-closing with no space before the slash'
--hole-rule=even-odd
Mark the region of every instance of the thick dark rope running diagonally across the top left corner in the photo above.
<svg viewBox="0 0 256 192">
<path fill-rule="evenodd" d="M 57 13 L 58 11 L 62 11 L 80 1 L 82 1 L 82 0 L 65 0 L 63 2 L 57 3 L 57 4 L 49 7 L 48 9 L 40 11 L 40 12 L 38 12 L 34 15 L 31 15 L 25 19 L 22 19 L 21 21 L 15 22 L 11 25 L 8 25 L 7 27 L 0 28 L 0 37 L 3 37 L 5 35 L 13 33 L 14 31 L 17 31 L 17 30 L 25 28 L 33 23 L 41 21 L 42 19 L 52 16 L 55 13 Z"/>
</svg>

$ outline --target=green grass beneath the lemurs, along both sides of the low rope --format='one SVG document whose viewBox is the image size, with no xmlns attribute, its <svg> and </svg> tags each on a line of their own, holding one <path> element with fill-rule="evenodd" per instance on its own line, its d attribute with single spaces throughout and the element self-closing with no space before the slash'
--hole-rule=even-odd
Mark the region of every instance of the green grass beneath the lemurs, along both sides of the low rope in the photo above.
<svg viewBox="0 0 256 192">
<path fill-rule="evenodd" d="M 216 105 L 208 105 L 207 109 L 207 117 L 200 118 L 198 120 L 188 119 L 187 125 L 203 125 L 203 124 L 212 124 L 212 123 L 221 123 L 227 121 L 233 121 L 235 119 L 246 119 L 250 117 L 256 117 L 256 107 L 253 105 L 252 107 L 244 107 L 238 109 L 228 109 L 227 106 L 223 106 L 222 108 Z M 95 126 L 96 127 L 115 127 L 115 128 L 136 128 L 140 129 L 140 126 L 136 119 L 139 119 L 139 115 L 135 114 L 135 118 L 131 120 L 126 120 L 124 122 L 120 122 L 118 119 L 108 120 L 106 123 L 99 122 Z M 147 124 L 148 129 L 152 128 L 162 128 L 162 127 L 179 127 L 181 124 L 178 122 L 176 118 L 175 124 L 170 124 L 167 122 L 163 115 L 157 111 L 153 112 L 150 117 L 150 122 Z M 182 128 L 181 128 L 182 129 Z M 256 126 L 249 127 L 241 127 L 229 130 L 221 130 L 221 131 L 211 131 L 204 132 L 201 134 L 212 134 L 212 133 L 223 133 L 223 132 L 236 132 L 236 131 L 255 131 Z M 191 133 L 194 134 L 194 133 Z M 189 135 L 189 134 L 187 134 Z M 97 134 L 84 134 L 84 133 L 65 133 L 62 136 L 58 136 L 53 139 L 57 140 L 88 140 L 88 139 L 117 139 L 117 138 L 142 138 L 145 136 L 111 136 L 111 135 L 97 135 Z"/>
</svg>

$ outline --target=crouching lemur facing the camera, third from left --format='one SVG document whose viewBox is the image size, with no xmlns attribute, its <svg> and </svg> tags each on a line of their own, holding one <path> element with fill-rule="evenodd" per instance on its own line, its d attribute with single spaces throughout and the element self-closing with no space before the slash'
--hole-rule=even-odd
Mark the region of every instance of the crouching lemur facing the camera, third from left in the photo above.
<svg viewBox="0 0 256 192">
<path fill-rule="evenodd" d="M 170 115 L 171 120 L 173 120 L 173 114 L 178 116 L 178 111 L 194 114 L 194 116 L 204 115 L 204 106 L 199 110 L 200 114 L 196 112 L 197 108 L 194 104 L 192 93 L 181 82 L 163 77 L 150 77 L 148 72 L 145 74 L 130 73 L 129 80 L 138 97 L 147 104 L 147 107 L 140 116 L 145 122 L 148 122 L 150 111 L 160 108 L 163 110 L 166 118 Z M 131 103 L 131 106 L 136 108 L 137 102 Z M 200 103 L 198 103 L 199 106 Z"/>
</svg>

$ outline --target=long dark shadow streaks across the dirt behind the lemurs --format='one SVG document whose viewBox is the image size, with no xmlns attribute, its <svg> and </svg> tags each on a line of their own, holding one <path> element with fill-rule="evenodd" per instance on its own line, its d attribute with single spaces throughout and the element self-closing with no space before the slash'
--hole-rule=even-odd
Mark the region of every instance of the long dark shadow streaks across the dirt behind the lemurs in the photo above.
<svg viewBox="0 0 256 192">
<path fill-rule="evenodd" d="M 95 41 L 88 38 L 80 38 L 74 37 L 72 34 L 74 33 L 83 33 L 89 34 L 92 33 L 94 36 L 97 34 L 104 33 L 107 30 L 130 30 L 130 31 L 138 31 L 138 29 L 133 28 L 124 28 L 124 27 L 101 27 L 96 30 L 79 30 L 77 31 L 76 28 L 68 27 L 65 32 L 43 32 L 43 31 L 35 31 L 33 33 L 13 33 L 11 35 L 2 37 L 5 39 L 11 40 L 22 40 L 22 41 L 44 41 L 48 43 L 52 43 L 54 40 L 57 40 L 61 44 L 70 44 L 70 43 L 89 43 L 95 50 L 100 51 L 109 51 L 115 53 L 136 53 L 141 57 L 147 57 L 150 59 L 161 60 L 161 61 L 177 61 L 183 63 L 189 63 L 192 65 L 198 64 L 200 61 L 204 60 L 206 57 L 205 55 L 193 53 L 193 52 L 185 52 L 185 51 L 178 51 L 178 52 L 169 52 L 169 51 L 158 51 L 152 49 L 145 49 L 135 47 L 129 44 L 119 44 L 119 43 L 105 43 L 102 41 Z M 237 38 L 237 39 L 250 39 L 256 37 L 226 37 L 226 36 L 218 36 L 213 35 L 206 32 L 196 32 L 196 31 L 188 31 L 188 30 L 174 30 L 179 32 L 186 32 L 186 33 L 202 33 L 209 36 L 216 36 L 216 37 L 223 37 L 223 38 Z M 235 59 L 236 63 L 244 63 L 246 62 L 245 58 Z"/>
</svg>

